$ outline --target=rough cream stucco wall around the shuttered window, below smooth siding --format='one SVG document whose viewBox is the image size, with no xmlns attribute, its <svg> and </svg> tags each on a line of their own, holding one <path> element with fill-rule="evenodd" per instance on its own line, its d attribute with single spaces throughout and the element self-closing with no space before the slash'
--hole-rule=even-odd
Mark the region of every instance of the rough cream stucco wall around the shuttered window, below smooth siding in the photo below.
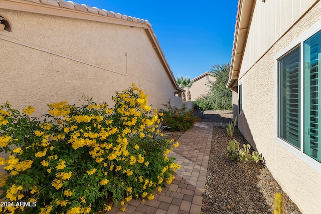
<svg viewBox="0 0 321 214">
<path fill-rule="evenodd" d="M 307 2 L 310 3 L 310 1 Z M 257 1 L 256 4 L 262 3 Z M 291 4 L 288 5 L 288 7 L 290 6 Z M 258 8 L 260 9 L 260 7 Z M 262 11 L 255 8 L 254 17 L 259 16 L 260 13 Z M 238 117 L 239 129 L 246 139 L 257 148 L 258 152 L 263 154 L 266 165 L 274 178 L 298 205 L 302 213 L 306 214 L 320 213 L 321 173 L 275 142 L 274 57 L 320 19 L 321 2 L 318 2 L 256 63 L 253 63 L 256 57 L 250 53 L 255 41 L 249 38 L 241 67 L 243 74 L 239 76 L 243 94 L 243 115 Z M 260 29 L 252 25 L 250 34 L 256 33 L 259 38 L 258 34 L 262 33 Z M 237 104 L 237 101 L 234 101 L 234 104 Z"/>
</svg>

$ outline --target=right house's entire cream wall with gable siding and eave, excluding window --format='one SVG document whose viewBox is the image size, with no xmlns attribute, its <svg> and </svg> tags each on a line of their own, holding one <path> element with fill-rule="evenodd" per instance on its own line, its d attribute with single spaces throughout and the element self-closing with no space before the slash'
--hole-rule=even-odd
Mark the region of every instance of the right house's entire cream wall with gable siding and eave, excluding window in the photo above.
<svg viewBox="0 0 321 214">
<path fill-rule="evenodd" d="M 250 9 L 244 9 L 248 6 Z M 238 128 L 263 155 L 273 177 L 302 213 L 319 213 L 321 163 L 299 152 L 293 153 L 276 140 L 275 57 L 321 20 L 321 2 L 240 0 L 239 8 L 228 83 L 228 87 L 234 90 L 233 113 L 238 115 Z M 245 10 L 249 13 L 247 17 Z M 248 26 L 240 26 L 242 18 L 248 20 Z M 241 29 L 246 31 L 244 38 Z M 237 44 L 237 40 L 243 40 L 243 45 Z M 242 86 L 241 114 L 235 112 L 238 111 L 239 85 Z"/>
</svg>

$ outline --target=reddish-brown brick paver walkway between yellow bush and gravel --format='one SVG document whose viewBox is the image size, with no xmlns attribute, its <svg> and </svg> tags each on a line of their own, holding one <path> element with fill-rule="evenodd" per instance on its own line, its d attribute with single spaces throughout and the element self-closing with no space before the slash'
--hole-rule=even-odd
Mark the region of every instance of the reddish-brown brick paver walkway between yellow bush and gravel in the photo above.
<svg viewBox="0 0 321 214">
<path fill-rule="evenodd" d="M 166 184 L 153 200 L 131 200 L 125 204 L 124 212 L 113 206 L 106 214 L 201 213 L 213 125 L 219 124 L 197 122 L 180 137 L 179 147 L 174 148 L 169 156 L 175 156 L 175 162 L 181 168 L 176 170 L 172 184 Z"/>
</svg>

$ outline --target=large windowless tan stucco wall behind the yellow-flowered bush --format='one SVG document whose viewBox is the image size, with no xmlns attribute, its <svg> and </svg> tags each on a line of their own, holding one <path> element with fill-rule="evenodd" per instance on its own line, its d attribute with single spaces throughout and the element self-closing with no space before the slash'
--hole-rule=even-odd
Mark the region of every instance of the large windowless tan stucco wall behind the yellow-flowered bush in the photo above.
<svg viewBox="0 0 321 214">
<path fill-rule="evenodd" d="M 4 9 L 0 16 L 12 25 L 0 32 L 0 103 L 33 105 L 38 116 L 51 102 L 81 105 L 83 94 L 113 106 L 115 91 L 135 83 L 155 108 L 169 99 L 182 105 L 142 28 Z"/>
</svg>

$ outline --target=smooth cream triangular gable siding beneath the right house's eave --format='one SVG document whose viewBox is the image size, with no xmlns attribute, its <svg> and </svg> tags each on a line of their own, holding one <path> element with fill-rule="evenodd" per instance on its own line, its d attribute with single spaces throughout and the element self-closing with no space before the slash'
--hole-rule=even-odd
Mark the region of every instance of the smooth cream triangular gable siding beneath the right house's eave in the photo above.
<svg viewBox="0 0 321 214">
<path fill-rule="evenodd" d="M 250 69 L 316 1 L 256 1 L 244 50 L 244 56 L 248 59 L 242 61 L 240 76 Z"/>
</svg>

